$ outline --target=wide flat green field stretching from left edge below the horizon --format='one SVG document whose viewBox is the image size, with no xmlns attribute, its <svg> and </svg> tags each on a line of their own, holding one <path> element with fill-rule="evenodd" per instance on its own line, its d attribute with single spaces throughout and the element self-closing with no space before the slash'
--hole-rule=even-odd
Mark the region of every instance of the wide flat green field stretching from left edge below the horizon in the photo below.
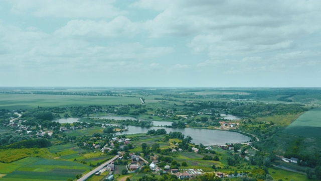
<svg viewBox="0 0 321 181">
<path fill-rule="evenodd" d="M 9 110 L 40 107 L 140 104 L 139 98 L 113 96 L 0 94 L 0 108 Z"/>
</svg>

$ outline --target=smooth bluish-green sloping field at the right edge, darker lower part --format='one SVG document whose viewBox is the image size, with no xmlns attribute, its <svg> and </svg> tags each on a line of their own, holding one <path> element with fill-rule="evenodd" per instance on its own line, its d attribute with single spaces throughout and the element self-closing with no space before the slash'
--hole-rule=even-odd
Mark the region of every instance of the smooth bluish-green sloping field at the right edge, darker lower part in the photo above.
<svg viewBox="0 0 321 181">
<path fill-rule="evenodd" d="M 321 138 L 321 108 L 305 112 L 283 132 L 303 137 Z"/>
</svg>

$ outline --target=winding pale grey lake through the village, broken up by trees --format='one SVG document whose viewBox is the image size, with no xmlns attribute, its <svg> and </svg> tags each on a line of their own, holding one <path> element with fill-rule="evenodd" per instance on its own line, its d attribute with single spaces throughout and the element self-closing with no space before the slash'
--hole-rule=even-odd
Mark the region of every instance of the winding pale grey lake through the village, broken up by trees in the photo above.
<svg viewBox="0 0 321 181">
<path fill-rule="evenodd" d="M 99 118 L 102 118 L 102 117 L 99 117 Z M 121 117 L 121 118 L 124 119 L 124 117 Z M 128 118 L 134 119 L 131 117 L 127 117 L 126 119 Z M 110 119 L 110 116 L 108 116 L 108 118 L 105 118 L 105 119 Z M 79 118 L 61 118 L 56 121 L 59 123 L 73 123 L 73 122 L 79 122 L 78 120 Z M 155 126 L 166 126 L 166 125 L 171 125 L 172 122 L 153 121 L 153 124 Z M 166 128 L 166 127 L 142 128 L 138 126 L 126 126 L 126 128 L 128 128 L 128 131 L 124 131 L 121 133 L 118 132 L 116 133 L 116 135 L 146 133 L 148 130 L 151 130 L 151 129 L 157 130 L 157 129 L 164 128 L 167 131 L 167 133 L 179 131 L 183 133 L 185 136 L 191 136 L 193 138 L 192 143 L 195 143 L 195 144 L 202 143 L 203 145 L 225 145 L 225 143 L 243 143 L 251 140 L 250 137 L 242 135 L 240 133 L 236 133 L 236 132 L 201 129 L 201 128 Z"/>
</svg>

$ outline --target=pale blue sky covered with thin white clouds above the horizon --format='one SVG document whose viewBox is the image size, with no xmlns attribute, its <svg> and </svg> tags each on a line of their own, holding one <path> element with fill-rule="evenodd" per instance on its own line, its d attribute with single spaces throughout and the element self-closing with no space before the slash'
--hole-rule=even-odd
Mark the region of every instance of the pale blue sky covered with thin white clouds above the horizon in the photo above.
<svg viewBox="0 0 321 181">
<path fill-rule="evenodd" d="M 0 1 L 0 86 L 320 87 L 321 1 Z"/>
</svg>

